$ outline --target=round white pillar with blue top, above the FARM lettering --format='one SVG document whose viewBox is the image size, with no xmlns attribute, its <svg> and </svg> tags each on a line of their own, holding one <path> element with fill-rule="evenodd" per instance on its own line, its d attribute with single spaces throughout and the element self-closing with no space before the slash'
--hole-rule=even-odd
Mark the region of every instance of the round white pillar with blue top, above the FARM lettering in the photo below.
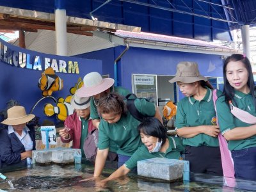
<svg viewBox="0 0 256 192">
<path fill-rule="evenodd" d="M 67 17 L 65 0 L 55 0 L 56 54 L 67 56 Z"/>
</svg>

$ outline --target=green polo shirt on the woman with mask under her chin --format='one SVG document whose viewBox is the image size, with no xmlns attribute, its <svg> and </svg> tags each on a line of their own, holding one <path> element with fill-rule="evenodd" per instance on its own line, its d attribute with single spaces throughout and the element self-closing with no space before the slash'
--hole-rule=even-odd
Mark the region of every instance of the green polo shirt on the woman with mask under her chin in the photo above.
<svg viewBox="0 0 256 192">
<path fill-rule="evenodd" d="M 140 148 L 132 154 L 131 158 L 125 162 L 125 166 L 132 170 L 137 166 L 137 162 L 144 159 L 151 159 L 154 157 L 163 157 L 168 159 L 179 159 L 181 154 L 184 153 L 184 145 L 182 145 L 182 141 L 180 138 L 168 137 L 169 147 L 166 150 L 166 153 L 163 152 L 148 152 L 148 149 L 145 145 L 142 145 Z"/>
</svg>

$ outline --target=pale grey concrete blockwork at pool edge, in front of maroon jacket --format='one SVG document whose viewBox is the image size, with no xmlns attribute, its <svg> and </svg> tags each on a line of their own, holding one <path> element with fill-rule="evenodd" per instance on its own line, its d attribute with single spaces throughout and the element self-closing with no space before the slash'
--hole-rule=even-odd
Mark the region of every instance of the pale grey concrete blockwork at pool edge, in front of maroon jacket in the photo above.
<svg viewBox="0 0 256 192">
<path fill-rule="evenodd" d="M 73 163 L 74 155 L 80 153 L 79 148 L 47 148 L 44 150 L 33 150 L 33 163 Z"/>
</svg>

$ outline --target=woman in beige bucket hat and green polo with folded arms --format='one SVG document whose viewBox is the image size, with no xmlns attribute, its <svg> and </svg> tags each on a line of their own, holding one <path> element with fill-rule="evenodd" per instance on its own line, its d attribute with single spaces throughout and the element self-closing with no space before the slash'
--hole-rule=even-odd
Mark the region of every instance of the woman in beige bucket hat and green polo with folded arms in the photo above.
<svg viewBox="0 0 256 192">
<path fill-rule="evenodd" d="M 212 100 L 212 86 L 200 75 L 198 65 L 182 61 L 177 65 L 175 77 L 180 92 L 186 97 L 177 104 L 175 127 L 186 146 L 185 159 L 190 171 L 223 175 L 218 142 L 219 126 Z M 218 91 L 217 95 L 221 95 Z"/>
</svg>

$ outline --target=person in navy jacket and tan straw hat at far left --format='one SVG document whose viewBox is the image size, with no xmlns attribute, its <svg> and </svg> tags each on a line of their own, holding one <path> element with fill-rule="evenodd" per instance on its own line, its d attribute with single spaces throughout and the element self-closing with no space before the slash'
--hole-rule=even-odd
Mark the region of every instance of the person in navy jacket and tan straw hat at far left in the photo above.
<svg viewBox="0 0 256 192">
<path fill-rule="evenodd" d="M 26 125 L 35 115 L 26 114 L 22 106 L 13 106 L 7 110 L 7 118 L 2 124 L 8 127 L 0 131 L 1 167 L 8 165 L 27 165 L 27 158 L 35 150 L 35 129 Z M 28 161 L 29 162 L 29 161 Z"/>
</svg>

